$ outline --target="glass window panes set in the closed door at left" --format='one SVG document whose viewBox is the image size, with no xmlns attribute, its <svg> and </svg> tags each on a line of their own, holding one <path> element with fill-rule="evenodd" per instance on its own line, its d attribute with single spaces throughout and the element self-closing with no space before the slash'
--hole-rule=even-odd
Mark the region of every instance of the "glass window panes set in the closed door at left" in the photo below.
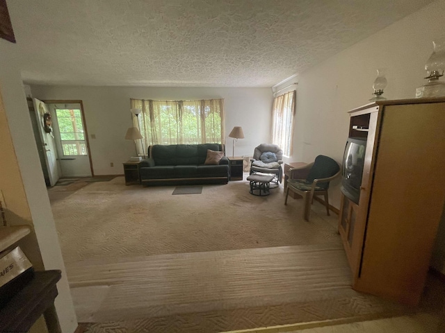
<svg viewBox="0 0 445 333">
<path fill-rule="evenodd" d="M 64 156 L 87 155 L 81 110 L 56 109 Z"/>
</svg>

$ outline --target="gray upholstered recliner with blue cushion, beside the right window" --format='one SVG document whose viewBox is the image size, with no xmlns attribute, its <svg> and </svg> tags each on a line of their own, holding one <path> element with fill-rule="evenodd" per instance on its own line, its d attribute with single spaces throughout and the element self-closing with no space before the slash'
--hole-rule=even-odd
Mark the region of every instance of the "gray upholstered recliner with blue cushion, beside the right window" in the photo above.
<svg viewBox="0 0 445 333">
<path fill-rule="evenodd" d="M 282 182 L 283 151 L 276 144 L 260 144 L 255 148 L 253 158 L 250 160 L 250 174 L 270 173 L 275 175 L 273 182 L 278 185 Z"/>
</svg>

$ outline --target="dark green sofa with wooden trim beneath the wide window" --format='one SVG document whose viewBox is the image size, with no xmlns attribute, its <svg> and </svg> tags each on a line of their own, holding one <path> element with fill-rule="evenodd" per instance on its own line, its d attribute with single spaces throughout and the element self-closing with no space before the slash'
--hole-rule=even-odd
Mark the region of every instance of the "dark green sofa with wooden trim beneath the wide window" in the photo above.
<svg viewBox="0 0 445 333">
<path fill-rule="evenodd" d="M 144 186 L 227 184 L 229 160 L 218 165 L 204 165 L 207 149 L 223 151 L 223 144 L 155 144 L 148 148 L 148 158 L 140 164 Z"/>
</svg>

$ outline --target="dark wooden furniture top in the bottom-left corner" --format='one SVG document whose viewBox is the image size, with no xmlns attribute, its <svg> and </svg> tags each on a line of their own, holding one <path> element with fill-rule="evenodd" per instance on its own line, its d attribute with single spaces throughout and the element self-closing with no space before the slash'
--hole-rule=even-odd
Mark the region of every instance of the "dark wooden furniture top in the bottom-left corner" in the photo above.
<svg viewBox="0 0 445 333">
<path fill-rule="evenodd" d="M 35 272 L 33 280 L 0 309 L 0 332 L 28 332 L 54 305 L 60 277 L 56 270 Z"/>
</svg>

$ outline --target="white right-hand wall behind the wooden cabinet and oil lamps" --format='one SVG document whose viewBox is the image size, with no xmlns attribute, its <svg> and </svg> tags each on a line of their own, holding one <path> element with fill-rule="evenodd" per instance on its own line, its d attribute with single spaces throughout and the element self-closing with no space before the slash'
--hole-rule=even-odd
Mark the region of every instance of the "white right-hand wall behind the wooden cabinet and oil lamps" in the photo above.
<svg viewBox="0 0 445 333">
<path fill-rule="evenodd" d="M 297 79 L 280 84 L 277 89 L 298 80 L 291 160 L 309 162 L 323 154 L 341 162 L 348 137 L 346 112 L 369 103 L 376 69 L 387 68 L 388 86 L 383 96 L 414 98 L 416 87 L 426 83 L 424 66 L 432 53 L 432 40 L 445 37 L 444 12 L 444 0 L 431 3 L 300 74 Z M 333 185 L 330 203 L 339 208 L 340 182 Z M 442 236 L 445 237 L 445 232 Z M 445 241 L 438 239 L 439 243 L 445 244 Z M 436 246 L 435 257 L 440 253 L 445 253 L 443 246 Z M 443 257 L 440 261 L 444 262 Z M 437 267 L 445 271 L 445 265 Z"/>
</svg>

